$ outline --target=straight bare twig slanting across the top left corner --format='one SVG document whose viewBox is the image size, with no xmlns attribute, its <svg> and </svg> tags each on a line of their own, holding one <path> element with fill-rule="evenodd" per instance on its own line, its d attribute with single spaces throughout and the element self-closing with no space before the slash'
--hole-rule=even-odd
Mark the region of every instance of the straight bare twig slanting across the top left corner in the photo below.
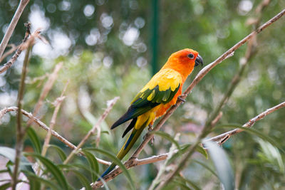
<svg viewBox="0 0 285 190">
<path fill-rule="evenodd" d="M 8 27 L 6 33 L 5 33 L 5 36 L 2 39 L 2 41 L 1 41 L 1 44 L 0 44 L 0 58 L 2 57 L 2 55 L 4 53 L 4 50 L 5 50 L 8 42 L 9 42 L 9 40 L 11 38 L 11 35 L 12 35 L 12 33 L 13 33 L 13 31 L 14 31 L 14 29 L 15 29 L 15 27 L 16 27 L 16 25 L 17 25 L 17 23 L 18 23 L 18 21 L 19 21 L 19 19 L 21 17 L 21 14 L 23 13 L 26 5 L 28 4 L 28 1 L 29 0 L 21 0 L 20 3 L 19 3 L 19 6 L 18 6 L 18 8 L 17 8 L 17 10 L 16 10 L 16 12 L 15 12 L 15 14 L 13 16 L 13 19 L 12 19 L 11 23 L 9 24 L 9 27 Z"/>
</svg>

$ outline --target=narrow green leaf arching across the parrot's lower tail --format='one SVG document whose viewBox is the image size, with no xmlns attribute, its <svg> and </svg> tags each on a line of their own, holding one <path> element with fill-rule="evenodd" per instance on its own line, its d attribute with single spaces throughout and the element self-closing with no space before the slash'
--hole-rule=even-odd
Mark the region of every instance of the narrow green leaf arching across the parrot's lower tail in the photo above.
<svg viewBox="0 0 285 190">
<path fill-rule="evenodd" d="M 128 170 L 125 168 L 124 164 L 122 162 L 120 162 L 120 159 L 118 159 L 117 157 L 115 157 L 112 153 L 107 152 L 103 149 L 98 149 L 98 148 L 86 148 L 84 150 L 89 150 L 89 151 L 95 151 L 95 152 L 100 152 L 101 154 L 104 154 L 106 157 L 109 157 L 110 159 L 112 159 L 112 161 L 117 164 L 120 169 L 123 170 L 123 173 L 125 174 L 125 176 L 127 177 L 128 181 L 130 181 L 131 187 L 132 189 L 135 189 L 135 183 L 133 182 L 133 179 L 130 176 L 130 173 L 128 172 Z"/>
</svg>

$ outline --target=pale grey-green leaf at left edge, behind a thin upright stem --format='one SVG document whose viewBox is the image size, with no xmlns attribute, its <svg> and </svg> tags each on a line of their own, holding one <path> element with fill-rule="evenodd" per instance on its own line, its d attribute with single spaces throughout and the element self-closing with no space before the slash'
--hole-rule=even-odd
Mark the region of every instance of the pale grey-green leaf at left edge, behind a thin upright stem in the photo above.
<svg viewBox="0 0 285 190">
<path fill-rule="evenodd" d="M 6 157 L 10 160 L 11 163 L 14 164 L 15 157 L 16 157 L 16 150 L 11 149 L 9 147 L 0 147 L 0 155 L 3 157 Z M 27 170 L 27 171 L 33 171 L 31 162 L 28 162 L 28 159 L 26 157 L 22 156 L 20 160 L 20 171 Z"/>
</svg>

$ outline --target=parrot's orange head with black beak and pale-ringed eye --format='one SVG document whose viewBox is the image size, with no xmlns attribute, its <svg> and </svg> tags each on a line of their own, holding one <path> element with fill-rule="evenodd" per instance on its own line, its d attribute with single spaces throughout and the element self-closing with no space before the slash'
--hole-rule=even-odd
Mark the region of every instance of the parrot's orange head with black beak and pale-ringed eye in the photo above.
<svg viewBox="0 0 285 190">
<path fill-rule="evenodd" d="M 183 78 L 187 78 L 192 72 L 193 68 L 197 65 L 203 65 L 203 59 L 199 56 L 197 51 L 192 49 L 183 49 L 172 53 L 170 58 L 168 58 L 163 68 L 172 68 L 173 70 L 181 73 Z"/>
</svg>

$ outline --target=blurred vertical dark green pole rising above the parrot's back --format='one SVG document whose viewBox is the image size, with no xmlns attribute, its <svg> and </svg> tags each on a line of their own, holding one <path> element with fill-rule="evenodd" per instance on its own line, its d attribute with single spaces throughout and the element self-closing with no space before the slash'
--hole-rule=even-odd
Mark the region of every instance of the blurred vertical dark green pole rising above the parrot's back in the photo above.
<svg viewBox="0 0 285 190">
<path fill-rule="evenodd" d="M 157 73 L 157 53 L 158 53 L 158 28 L 159 28 L 159 21 L 158 21 L 158 11 L 159 11 L 159 1 L 158 0 L 151 0 L 152 1 L 152 38 L 151 38 L 151 46 L 152 46 L 152 75 Z"/>
</svg>

